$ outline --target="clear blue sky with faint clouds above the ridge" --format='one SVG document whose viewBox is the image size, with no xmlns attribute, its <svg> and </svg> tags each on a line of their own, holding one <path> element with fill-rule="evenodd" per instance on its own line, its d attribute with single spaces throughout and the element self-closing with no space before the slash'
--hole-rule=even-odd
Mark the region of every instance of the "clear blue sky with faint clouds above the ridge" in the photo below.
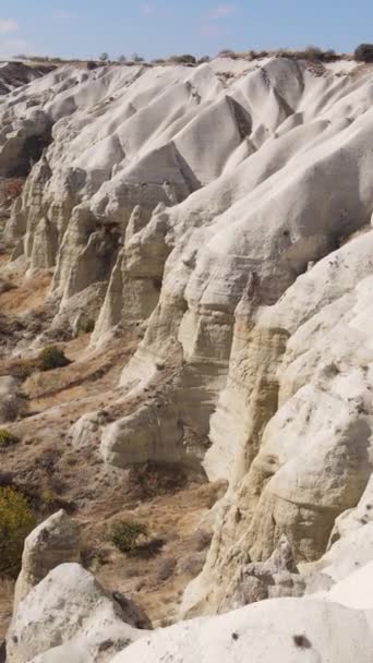
<svg viewBox="0 0 373 663">
<path fill-rule="evenodd" d="M 1 0 L 0 58 L 215 55 L 222 48 L 351 51 L 373 41 L 373 0 Z"/>
</svg>

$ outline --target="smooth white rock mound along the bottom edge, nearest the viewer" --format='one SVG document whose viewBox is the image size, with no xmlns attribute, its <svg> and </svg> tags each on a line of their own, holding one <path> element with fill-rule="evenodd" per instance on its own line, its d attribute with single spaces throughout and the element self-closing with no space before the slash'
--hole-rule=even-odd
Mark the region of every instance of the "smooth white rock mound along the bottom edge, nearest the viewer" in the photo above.
<svg viewBox="0 0 373 663">
<path fill-rule="evenodd" d="M 272 599 L 158 630 L 119 653 L 112 663 L 369 663 L 372 628 L 371 611 Z"/>
</svg>

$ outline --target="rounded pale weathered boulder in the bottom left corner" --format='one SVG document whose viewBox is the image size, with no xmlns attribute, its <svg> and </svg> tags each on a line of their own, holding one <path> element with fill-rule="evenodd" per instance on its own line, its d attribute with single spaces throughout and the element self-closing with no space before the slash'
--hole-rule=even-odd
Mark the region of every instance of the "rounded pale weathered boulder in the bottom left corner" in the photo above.
<svg viewBox="0 0 373 663">
<path fill-rule="evenodd" d="M 67 644 L 68 651 L 84 652 L 87 663 L 105 663 L 144 635 L 125 623 L 134 614 L 128 606 L 123 611 L 79 564 L 62 564 L 19 604 L 7 638 L 7 661 L 26 663 Z"/>
</svg>

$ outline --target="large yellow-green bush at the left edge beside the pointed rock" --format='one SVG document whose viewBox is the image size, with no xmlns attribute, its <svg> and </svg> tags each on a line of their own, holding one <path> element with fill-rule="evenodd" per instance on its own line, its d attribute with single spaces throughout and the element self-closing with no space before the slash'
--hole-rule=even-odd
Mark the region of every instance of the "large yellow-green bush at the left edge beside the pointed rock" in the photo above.
<svg viewBox="0 0 373 663">
<path fill-rule="evenodd" d="M 10 487 L 0 487 L 0 574 L 20 572 L 23 544 L 36 526 L 26 498 Z"/>
</svg>

